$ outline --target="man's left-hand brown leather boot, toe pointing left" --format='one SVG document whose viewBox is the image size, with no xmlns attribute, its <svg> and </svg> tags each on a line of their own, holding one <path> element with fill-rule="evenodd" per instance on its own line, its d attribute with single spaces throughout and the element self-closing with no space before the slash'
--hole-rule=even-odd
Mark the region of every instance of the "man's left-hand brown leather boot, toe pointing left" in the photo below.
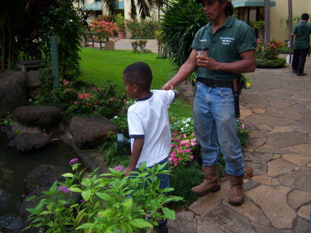
<svg viewBox="0 0 311 233">
<path fill-rule="evenodd" d="M 203 196 L 209 192 L 220 190 L 220 183 L 217 176 L 217 165 L 202 167 L 204 174 L 203 182 L 200 185 L 193 187 L 191 192 L 198 196 Z"/>
</svg>

